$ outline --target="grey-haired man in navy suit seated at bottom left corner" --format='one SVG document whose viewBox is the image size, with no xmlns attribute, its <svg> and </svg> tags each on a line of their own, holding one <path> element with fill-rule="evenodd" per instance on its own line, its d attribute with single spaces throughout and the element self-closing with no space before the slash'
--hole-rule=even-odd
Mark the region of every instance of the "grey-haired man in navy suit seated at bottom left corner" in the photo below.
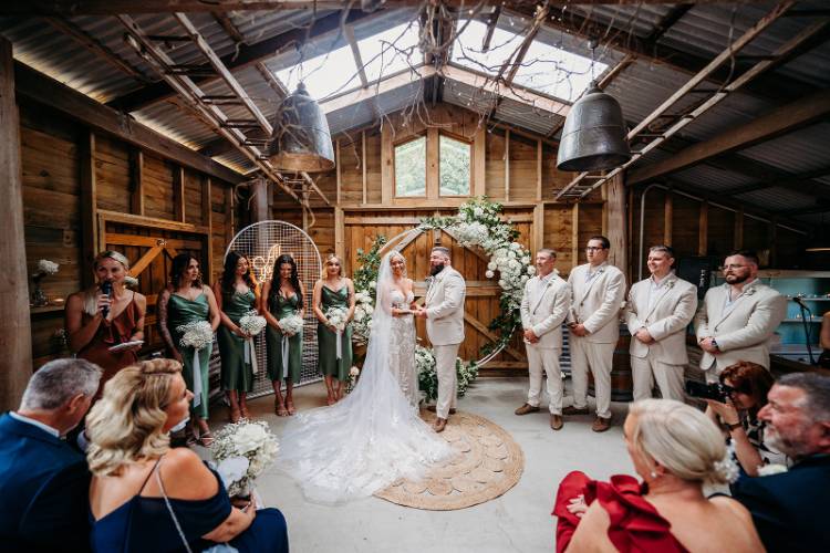
<svg viewBox="0 0 830 553">
<path fill-rule="evenodd" d="M 89 361 L 51 361 L 20 409 L 0 417 L 0 550 L 90 550 L 90 472 L 61 437 L 86 415 L 100 379 Z"/>
</svg>

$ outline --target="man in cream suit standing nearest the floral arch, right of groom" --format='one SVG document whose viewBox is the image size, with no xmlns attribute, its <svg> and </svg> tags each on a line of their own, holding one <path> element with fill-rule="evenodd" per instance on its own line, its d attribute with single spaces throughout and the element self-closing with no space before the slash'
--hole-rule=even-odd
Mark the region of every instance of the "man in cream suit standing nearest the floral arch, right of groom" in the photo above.
<svg viewBox="0 0 830 553">
<path fill-rule="evenodd" d="M 571 306 L 571 288 L 553 269 L 557 253 L 541 249 L 536 253 L 537 274 L 525 284 L 521 298 L 521 326 L 528 352 L 530 389 L 528 400 L 516 409 L 516 415 L 539 410 L 542 390 L 542 368 L 548 375 L 550 427 L 562 428 L 562 375 L 559 355 L 562 353 L 562 322 Z"/>
</svg>

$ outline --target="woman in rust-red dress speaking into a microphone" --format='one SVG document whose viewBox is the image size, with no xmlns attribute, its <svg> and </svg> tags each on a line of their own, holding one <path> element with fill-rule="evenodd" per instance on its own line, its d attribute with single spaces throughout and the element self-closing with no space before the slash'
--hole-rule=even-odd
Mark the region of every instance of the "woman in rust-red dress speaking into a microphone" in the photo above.
<svg viewBox="0 0 830 553">
<path fill-rule="evenodd" d="M 147 299 L 124 286 L 129 261 L 117 251 L 98 253 L 93 262 L 93 269 L 97 284 L 66 299 L 65 324 L 70 349 L 104 371 L 95 395 L 98 398 L 104 384 L 115 376 L 115 373 L 138 362 L 137 353 L 141 345 L 115 352 L 110 348 L 144 340 Z M 110 295 L 101 291 L 105 282 L 112 285 Z"/>
</svg>

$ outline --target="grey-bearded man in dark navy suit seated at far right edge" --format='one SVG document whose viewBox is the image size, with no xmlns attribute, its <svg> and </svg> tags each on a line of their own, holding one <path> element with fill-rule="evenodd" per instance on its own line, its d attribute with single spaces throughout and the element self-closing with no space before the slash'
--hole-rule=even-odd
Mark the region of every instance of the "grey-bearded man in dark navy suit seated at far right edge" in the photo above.
<svg viewBox="0 0 830 553">
<path fill-rule="evenodd" d="M 749 509 L 767 551 L 830 551 L 830 377 L 782 376 L 758 418 L 767 442 L 795 465 L 778 474 L 743 478 L 733 495 Z"/>
</svg>

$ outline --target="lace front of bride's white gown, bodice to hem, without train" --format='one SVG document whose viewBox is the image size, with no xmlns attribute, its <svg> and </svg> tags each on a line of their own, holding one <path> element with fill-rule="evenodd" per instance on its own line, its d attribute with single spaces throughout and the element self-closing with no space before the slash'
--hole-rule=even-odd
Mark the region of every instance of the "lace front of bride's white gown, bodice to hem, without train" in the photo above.
<svg viewBox="0 0 830 553">
<path fill-rule="evenodd" d="M 400 290 L 393 290 L 390 294 L 392 305 L 405 307 L 414 299 L 409 292 L 406 298 Z M 415 367 L 415 317 L 403 315 L 392 317 L 392 330 L 390 333 L 390 368 L 401 385 L 401 392 L 409 400 L 415 413 L 418 410 L 418 374 Z"/>
</svg>

